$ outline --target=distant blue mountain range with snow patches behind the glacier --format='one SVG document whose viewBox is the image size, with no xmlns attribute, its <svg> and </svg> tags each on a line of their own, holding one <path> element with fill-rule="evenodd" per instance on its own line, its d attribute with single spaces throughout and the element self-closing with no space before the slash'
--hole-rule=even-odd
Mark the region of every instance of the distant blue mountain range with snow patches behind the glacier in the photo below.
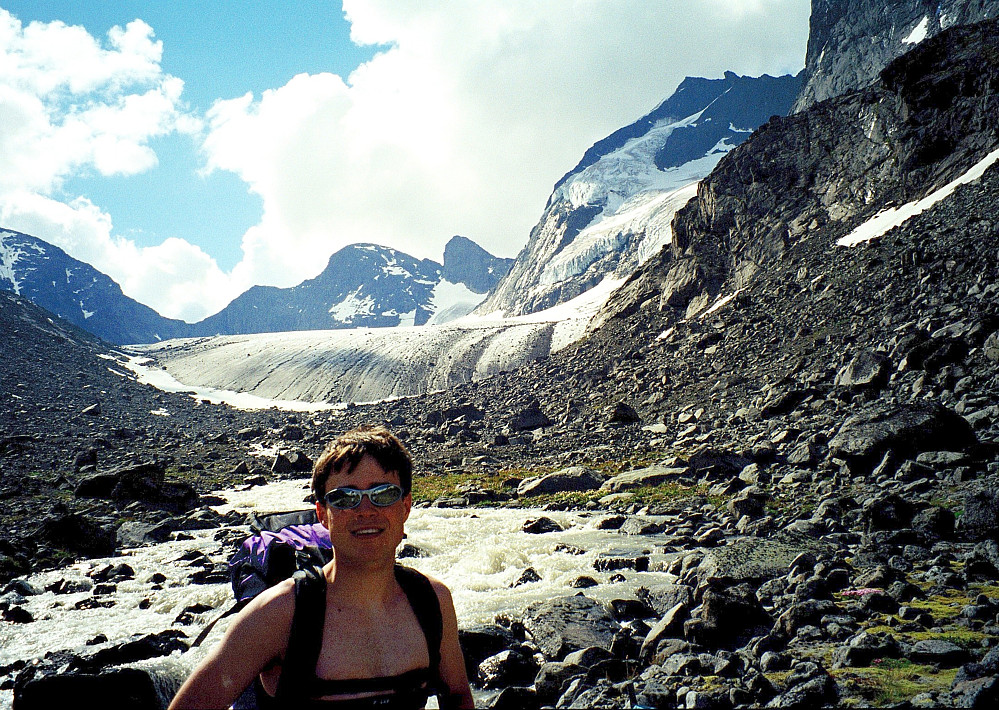
<svg viewBox="0 0 999 710">
<path fill-rule="evenodd" d="M 0 231 L 0 288 L 117 344 L 290 330 L 424 325 L 465 315 L 509 269 L 456 236 L 444 264 L 374 244 L 352 244 L 321 274 L 291 288 L 254 286 L 198 323 L 164 318 L 109 276 L 37 237 Z"/>
</svg>

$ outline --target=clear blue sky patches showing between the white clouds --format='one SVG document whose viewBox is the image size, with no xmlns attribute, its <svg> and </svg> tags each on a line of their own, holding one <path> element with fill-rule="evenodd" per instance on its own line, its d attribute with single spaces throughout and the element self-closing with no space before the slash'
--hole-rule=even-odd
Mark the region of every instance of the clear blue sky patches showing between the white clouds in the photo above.
<svg viewBox="0 0 999 710">
<path fill-rule="evenodd" d="M 218 99 L 259 94 L 302 72 L 347 76 L 379 49 L 350 41 L 338 2 L 0 0 L 0 7 L 25 24 L 61 21 L 95 37 L 143 19 L 163 42 L 163 71 L 184 80 L 184 101 L 201 113 Z M 172 134 L 150 145 L 159 157 L 155 169 L 127 177 L 74 176 L 64 193 L 101 205 L 113 215 L 116 232 L 142 246 L 180 237 L 231 269 L 239 261 L 240 238 L 260 218 L 259 197 L 233 173 L 199 175 L 202 161 L 189 136 Z"/>
</svg>

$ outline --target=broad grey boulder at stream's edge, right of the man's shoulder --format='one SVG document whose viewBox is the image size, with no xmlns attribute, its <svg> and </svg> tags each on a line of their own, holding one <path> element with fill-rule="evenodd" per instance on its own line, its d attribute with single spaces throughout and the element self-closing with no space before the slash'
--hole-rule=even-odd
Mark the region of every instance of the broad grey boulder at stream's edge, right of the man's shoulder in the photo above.
<svg viewBox="0 0 999 710">
<path fill-rule="evenodd" d="M 555 660 L 588 646 L 610 649 L 618 629 L 602 604 L 581 595 L 535 602 L 523 624 L 545 658 Z"/>
</svg>

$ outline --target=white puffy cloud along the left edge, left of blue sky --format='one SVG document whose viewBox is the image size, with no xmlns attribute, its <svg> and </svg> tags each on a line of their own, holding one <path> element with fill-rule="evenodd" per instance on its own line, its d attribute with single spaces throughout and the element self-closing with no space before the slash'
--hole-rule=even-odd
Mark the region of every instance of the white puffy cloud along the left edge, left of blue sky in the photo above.
<svg viewBox="0 0 999 710">
<path fill-rule="evenodd" d="M 74 175 L 148 170 L 151 139 L 201 130 L 183 109 L 183 81 L 160 69 L 162 51 L 141 20 L 102 44 L 82 27 L 23 26 L 0 9 L 0 224 L 92 264 L 164 315 L 195 319 L 233 295 L 209 255 L 177 239 L 140 248 L 114 236 L 99 206 L 62 191 Z"/>
</svg>

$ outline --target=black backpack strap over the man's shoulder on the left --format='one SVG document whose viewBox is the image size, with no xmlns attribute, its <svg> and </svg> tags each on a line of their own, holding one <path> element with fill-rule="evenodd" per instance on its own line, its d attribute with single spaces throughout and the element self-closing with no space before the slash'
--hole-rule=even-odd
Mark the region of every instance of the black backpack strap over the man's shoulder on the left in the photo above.
<svg viewBox="0 0 999 710">
<path fill-rule="evenodd" d="M 281 664 L 276 698 L 301 695 L 316 677 L 326 619 L 326 577 L 322 567 L 306 564 L 292 575 L 295 580 L 295 615 L 288 635 L 288 649 Z"/>
</svg>

